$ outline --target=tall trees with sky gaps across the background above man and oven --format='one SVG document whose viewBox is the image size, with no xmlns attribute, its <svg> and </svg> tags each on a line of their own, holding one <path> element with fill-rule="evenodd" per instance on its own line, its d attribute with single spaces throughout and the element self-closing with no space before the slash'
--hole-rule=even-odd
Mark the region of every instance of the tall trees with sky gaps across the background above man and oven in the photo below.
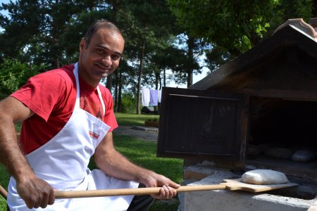
<svg viewBox="0 0 317 211">
<path fill-rule="evenodd" d="M 0 63 L 15 58 L 47 69 L 74 63 L 90 23 L 108 19 L 125 37 L 120 81 L 116 75 L 109 82 L 115 84 L 115 96 L 121 89 L 139 104 L 142 86 L 161 89 L 172 79 L 190 85 L 192 73 L 201 71 L 200 56 L 205 67 L 216 70 L 287 19 L 307 22 L 317 11 L 313 6 L 312 0 L 10 1 L 0 6 L 8 11 L 8 16 L 0 14 Z M 166 70 L 172 70 L 170 78 Z"/>
</svg>

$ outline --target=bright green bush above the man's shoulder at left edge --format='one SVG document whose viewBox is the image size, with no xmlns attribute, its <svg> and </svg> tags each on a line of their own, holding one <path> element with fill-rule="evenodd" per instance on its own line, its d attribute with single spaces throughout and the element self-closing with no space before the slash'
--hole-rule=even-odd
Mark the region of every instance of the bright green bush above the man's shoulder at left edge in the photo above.
<svg viewBox="0 0 317 211">
<path fill-rule="evenodd" d="M 44 65 L 31 66 L 16 59 L 5 59 L 4 63 L 0 64 L 0 93 L 4 96 L 11 94 L 43 69 Z"/>
</svg>

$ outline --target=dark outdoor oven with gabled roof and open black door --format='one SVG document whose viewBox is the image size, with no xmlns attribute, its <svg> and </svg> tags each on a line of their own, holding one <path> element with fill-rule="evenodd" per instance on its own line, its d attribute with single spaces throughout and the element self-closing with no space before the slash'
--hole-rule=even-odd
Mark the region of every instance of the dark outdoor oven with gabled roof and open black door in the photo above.
<svg viewBox="0 0 317 211">
<path fill-rule="evenodd" d="M 278 170 L 311 191 L 277 194 L 315 198 L 317 39 L 311 25 L 288 20 L 189 89 L 163 88 L 157 155 L 184 158 L 185 167 L 209 160 L 235 173 Z"/>
</svg>

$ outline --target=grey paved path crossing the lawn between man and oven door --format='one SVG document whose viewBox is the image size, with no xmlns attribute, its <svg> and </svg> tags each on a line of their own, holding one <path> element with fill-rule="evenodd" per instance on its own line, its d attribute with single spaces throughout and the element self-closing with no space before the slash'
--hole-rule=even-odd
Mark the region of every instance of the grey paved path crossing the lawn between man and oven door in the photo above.
<svg viewBox="0 0 317 211">
<path fill-rule="evenodd" d="M 159 129 L 156 127 L 142 127 L 142 126 L 119 126 L 113 130 L 113 134 L 123 134 L 134 136 L 137 139 L 147 141 L 157 141 Z"/>
</svg>

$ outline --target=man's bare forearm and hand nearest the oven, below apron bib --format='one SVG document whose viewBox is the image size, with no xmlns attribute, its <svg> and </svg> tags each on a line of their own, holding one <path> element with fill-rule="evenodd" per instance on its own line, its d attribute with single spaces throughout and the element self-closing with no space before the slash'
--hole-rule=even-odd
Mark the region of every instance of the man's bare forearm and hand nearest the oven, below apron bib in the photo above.
<svg viewBox="0 0 317 211">
<path fill-rule="evenodd" d="M 180 186 L 161 174 L 156 174 L 150 170 L 138 167 L 123 157 L 123 155 L 118 153 L 113 147 L 112 132 L 108 132 L 104 140 L 97 146 L 94 153 L 94 160 L 100 170 L 111 177 L 138 181 L 147 187 L 161 186 L 160 194 L 153 196 L 154 198 L 173 198 L 176 195 L 174 188 Z"/>
</svg>

